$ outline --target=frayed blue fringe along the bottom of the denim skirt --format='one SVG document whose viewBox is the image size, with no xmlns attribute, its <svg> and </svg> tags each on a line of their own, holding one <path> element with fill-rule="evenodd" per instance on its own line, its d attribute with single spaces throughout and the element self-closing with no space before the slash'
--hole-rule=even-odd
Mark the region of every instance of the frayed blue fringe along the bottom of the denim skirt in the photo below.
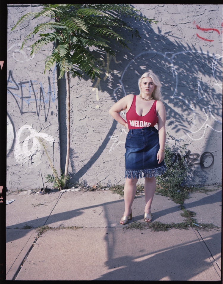
<svg viewBox="0 0 223 284">
<path fill-rule="evenodd" d="M 161 167 L 148 170 L 125 170 L 125 178 L 153 178 L 162 175 L 166 170 L 167 166 L 165 163 Z"/>
</svg>

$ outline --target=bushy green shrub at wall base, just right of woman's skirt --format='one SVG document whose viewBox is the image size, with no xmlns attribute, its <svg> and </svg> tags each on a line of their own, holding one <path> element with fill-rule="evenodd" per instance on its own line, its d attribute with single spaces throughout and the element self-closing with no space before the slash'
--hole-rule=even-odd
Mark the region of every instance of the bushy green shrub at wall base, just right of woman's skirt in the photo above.
<svg viewBox="0 0 223 284">
<path fill-rule="evenodd" d="M 177 154 L 176 154 L 177 153 Z M 170 197 L 175 203 L 183 204 L 188 198 L 189 188 L 184 186 L 191 172 L 191 166 L 184 157 L 185 146 L 175 147 L 172 150 L 169 145 L 165 146 L 165 164 L 167 171 L 156 178 L 156 192 Z"/>
</svg>

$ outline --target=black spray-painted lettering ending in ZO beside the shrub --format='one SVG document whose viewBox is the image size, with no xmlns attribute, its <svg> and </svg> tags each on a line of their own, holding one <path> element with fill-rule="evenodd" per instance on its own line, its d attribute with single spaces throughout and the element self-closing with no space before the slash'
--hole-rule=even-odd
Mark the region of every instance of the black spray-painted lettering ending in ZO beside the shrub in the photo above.
<svg viewBox="0 0 223 284">
<path fill-rule="evenodd" d="M 191 154 L 191 151 L 187 151 L 186 155 L 183 156 L 189 164 L 194 167 L 196 165 L 200 165 L 202 170 L 206 170 L 211 168 L 214 164 L 214 156 L 210 152 L 204 152 L 201 156 L 198 153 Z M 199 160 L 200 157 L 200 160 Z M 173 154 L 173 162 L 175 163 L 177 160 L 182 159 L 180 154 Z"/>
</svg>

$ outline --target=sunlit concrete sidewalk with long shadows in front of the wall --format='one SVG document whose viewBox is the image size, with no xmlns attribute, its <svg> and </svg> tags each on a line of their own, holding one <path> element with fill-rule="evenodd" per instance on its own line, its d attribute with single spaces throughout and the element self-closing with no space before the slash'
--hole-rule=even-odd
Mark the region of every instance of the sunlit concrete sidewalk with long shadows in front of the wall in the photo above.
<svg viewBox="0 0 223 284">
<path fill-rule="evenodd" d="M 209 231 L 127 229 L 119 225 L 124 199 L 110 190 L 27 191 L 7 200 L 14 201 L 7 204 L 6 280 L 221 280 L 219 188 L 185 201 L 197 223 L 220 227 Z M 144 222 L 144 207 L 144 195 L 136 196 L 129 223 Z M 183 222 L 181 213 L 169 198 L 154 196 L 153 222 Z M 43 225 L 55 230 L 37 238 L 34 228 Z"/>
</svg>

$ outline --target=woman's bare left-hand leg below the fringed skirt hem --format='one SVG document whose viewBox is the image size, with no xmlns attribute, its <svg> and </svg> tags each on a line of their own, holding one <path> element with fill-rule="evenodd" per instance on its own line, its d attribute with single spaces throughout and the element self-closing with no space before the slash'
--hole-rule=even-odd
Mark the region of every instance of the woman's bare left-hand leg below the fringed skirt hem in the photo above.
<svg viewBox="0 0 223 284">
<path fill-rule="evenodd" d="M 128 216 L 131 214 L 132 203 L 136 195 L 137 181 L 138 179 L 136 178 L 126 178 L 125 186 L 124 186 L 124 201 L 125 201 L 125 212 L 123 214 L 124 216 Z"/>
</svg>

